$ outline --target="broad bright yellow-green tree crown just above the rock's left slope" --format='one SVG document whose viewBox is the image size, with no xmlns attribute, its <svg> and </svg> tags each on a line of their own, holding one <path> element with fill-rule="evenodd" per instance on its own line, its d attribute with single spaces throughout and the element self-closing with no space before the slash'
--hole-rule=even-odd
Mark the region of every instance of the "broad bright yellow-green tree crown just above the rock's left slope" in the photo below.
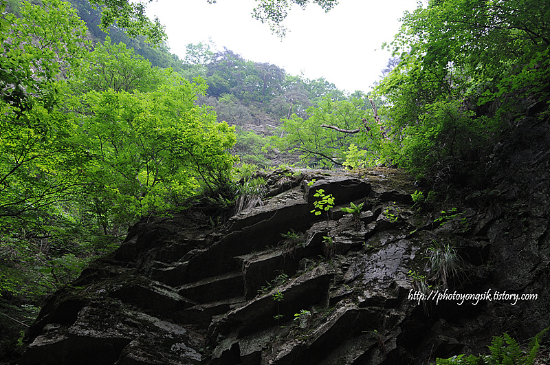
<svg viewBox="0 0 550 365">
<path fill-rule="evenodd" d="M 203 88 L 175 81 L 151 93 L 109 89 L 83 98 L 90 106 L 82 118 L 89 184 L 101 206 L 127 223 L 174 208 L 199 181 L 214 193 L 230 179 L 232 129 L 193 106 Z"/>
</svg>

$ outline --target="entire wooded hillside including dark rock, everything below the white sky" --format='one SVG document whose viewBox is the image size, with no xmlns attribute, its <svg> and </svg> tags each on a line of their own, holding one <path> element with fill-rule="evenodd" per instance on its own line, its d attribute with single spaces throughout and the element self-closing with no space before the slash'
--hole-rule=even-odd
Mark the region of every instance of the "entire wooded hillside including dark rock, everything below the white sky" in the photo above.
<svg viewBox="0 0 550 365">
<path fill-rule="evenodd" d="M 350 95 L 92 1 L 0 2 L 1 361 L 424 364 L 549 326 L 550 3 L 419 3 Z"/>
</svg>

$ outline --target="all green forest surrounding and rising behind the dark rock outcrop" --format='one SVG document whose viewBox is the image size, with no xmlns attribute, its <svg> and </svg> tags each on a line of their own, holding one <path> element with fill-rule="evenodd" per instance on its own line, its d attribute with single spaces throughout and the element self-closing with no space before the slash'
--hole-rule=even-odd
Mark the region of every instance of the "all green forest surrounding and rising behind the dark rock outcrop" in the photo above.
<svg viewBox="0 0 550 365">
<path fill-rule="evenodd" d="M 133 223 L 199 197 L 221 223 L 239 196 L 261 193 L 252 171 L 272 160 L 406 168 L 415 199 L 435 212 L 500 194 L 489 168 L 507 162 L 496 156 L 520 155 L 503 146 L 548 120 L 545 1 L 423 3 L 387 45 L 394 58 L 374 91 L 351 95 L 211 43 L 180 59 L 121 23 L 107 37 L 100 12 L 71 4 L 1 5 L 0 320 L 10 346 L 45 294 Z"/>
</svg>

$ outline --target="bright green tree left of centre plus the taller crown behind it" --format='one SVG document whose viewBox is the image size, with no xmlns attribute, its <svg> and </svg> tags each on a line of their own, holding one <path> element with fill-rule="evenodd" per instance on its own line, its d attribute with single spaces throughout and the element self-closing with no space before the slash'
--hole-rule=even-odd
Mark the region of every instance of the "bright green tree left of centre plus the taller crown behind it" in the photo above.
<svg viewBox="0 0 550 365">
<path fill-rule="evenodd" d="M 172 210 L 199 188 L 228 194 L 234 134 L 195 106 L 206 85 L 151 67 L 109 38 L 69 82 L 89 151 L 89 205 L 104 232 Z"/>
</svg>

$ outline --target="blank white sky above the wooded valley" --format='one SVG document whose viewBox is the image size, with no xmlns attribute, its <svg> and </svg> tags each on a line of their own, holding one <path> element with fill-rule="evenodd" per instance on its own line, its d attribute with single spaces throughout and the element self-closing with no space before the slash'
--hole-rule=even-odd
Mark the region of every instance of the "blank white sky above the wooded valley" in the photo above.
<svg viewBox="0 0 550 365">
<path fill-rule="evenodd" d="M 325 77 L 339 89 L 369 91 L 386 66 L 390 52 L 381 50 L 399 30 L 405 10 L 415 0 L 340 0 L 325 12 L 310 3 L 297 5 L 284 24 L 289 29 L 281 40 L 269 26 L 252 19 L 254 0 L 157 0 L 148 15 L 166 25 L 170 51 L 185 56 L 188 43 L 207 42 L 227 47 L 247 60 L 272 63 L 287 74 Z"/>
</svg>

